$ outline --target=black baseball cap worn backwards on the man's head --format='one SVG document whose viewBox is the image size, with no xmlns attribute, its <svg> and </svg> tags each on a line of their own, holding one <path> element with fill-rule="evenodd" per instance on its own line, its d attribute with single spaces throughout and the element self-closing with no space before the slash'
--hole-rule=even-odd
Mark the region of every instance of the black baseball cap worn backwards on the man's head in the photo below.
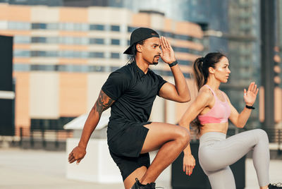
<svg viewBox="0 0 282 189">
<path fill-rule="evenodd" d="M 149 39 L 151 37 L 159 37 L 159 34 L 151 28 L 137 28 L 130 35 L 130 47 L 123 54 L 133 54 L 132 48 L 137 42 Z"/>
</svg>

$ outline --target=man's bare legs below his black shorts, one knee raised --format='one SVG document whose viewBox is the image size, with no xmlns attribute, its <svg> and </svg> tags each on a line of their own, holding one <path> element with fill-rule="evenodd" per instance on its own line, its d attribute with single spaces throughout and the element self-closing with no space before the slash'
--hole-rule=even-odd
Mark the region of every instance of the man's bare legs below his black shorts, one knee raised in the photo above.
<svg viewBox="0 0 282 189">
<path fill-rule="evenodd" d="M 188 130 L 180 126 L 154 122 L 145 127 L 149 128 L 149 131 L 141 154 L 158 149 L 159 152 L 149 169 L 136 169 L 125 179 L 124 184 L 130 185 L 130 187 L 135 183 L 135 178 L 139 178 L 142 184 L 156 181 L 159 174 L 178 157 L 190 141 Z M 125 186 L 125 188 L 127 187 Z"/>
</svg>

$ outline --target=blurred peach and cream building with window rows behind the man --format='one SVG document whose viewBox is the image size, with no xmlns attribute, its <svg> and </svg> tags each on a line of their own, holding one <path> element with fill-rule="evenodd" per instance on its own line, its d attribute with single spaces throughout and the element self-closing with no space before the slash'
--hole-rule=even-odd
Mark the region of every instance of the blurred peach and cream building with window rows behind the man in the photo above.
<svg viewBox="0 0 282 189">
<path fill-rule="evenodd" d="M 168 37 L 192 96 L 197 93 L 190 79 L 190 63 L 203 54 L 204 33 L 196 23 L 167 18 L 158 11 L 11 2 L 17 1 L 0 4 L 0 35 L 14 40 L 16 128 L 61 129 L 90 111 L 109 73 L 127 63 L 123 51 L 137 27 L 153 28 Z M 165 63 L 152 70 L 174 82 Z M 157 98 L 151 120 L 176 123 L 187 105 Z"/>
</svg>

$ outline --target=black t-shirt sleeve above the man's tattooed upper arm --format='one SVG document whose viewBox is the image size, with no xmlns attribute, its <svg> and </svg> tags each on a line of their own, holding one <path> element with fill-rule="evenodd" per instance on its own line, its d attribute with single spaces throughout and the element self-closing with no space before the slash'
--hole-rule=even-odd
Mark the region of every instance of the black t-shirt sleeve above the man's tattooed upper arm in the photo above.
<svg viewBox="0 0 282 189">
<path fill-rule="evenodd" d="M 102 91 L 111 99 L 116 100 L 128 89 L 129 85 L 129 76 L 125 73 L 115 71 L 109 75 L 106 83 L 102 86 Z"/>
</svg>

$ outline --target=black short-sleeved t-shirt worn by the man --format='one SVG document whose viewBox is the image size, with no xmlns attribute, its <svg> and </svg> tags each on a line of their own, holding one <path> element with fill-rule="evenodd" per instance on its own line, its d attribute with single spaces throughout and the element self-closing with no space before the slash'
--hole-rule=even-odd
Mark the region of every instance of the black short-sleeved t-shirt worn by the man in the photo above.
<svg viewBox="0 0 282 189">
<path fill-rule="evenodd" d="M 115 102 L 111 106 L 108 140 L 135 123 L 147 122 L 154 99 L 166 80 L 148 70 L 145 74 L 135 62 L 114 71 L 102 90 Z"/>
</svg>

